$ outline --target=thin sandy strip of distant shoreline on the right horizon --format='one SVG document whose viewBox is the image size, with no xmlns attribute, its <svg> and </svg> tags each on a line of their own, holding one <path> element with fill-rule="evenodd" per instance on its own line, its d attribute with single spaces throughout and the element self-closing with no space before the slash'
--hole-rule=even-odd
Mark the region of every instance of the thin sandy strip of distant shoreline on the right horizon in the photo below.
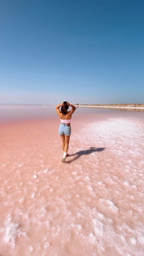
<svg viewBox="0 0 144 256">
<path fill-rule="evenodd" d="M 144 109 L 144 104 L 75 104 L 75 107 L 91 107 L 91 108 L 119 108 L 119 109 Z"/>
</svg>

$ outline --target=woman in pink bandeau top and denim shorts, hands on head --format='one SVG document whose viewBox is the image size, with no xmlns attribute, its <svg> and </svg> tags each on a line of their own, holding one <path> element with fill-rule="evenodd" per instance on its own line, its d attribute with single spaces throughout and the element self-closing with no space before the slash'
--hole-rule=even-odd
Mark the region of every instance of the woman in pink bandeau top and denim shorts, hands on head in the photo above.
<svg viewBox="0 0 144 256">
<path fill-rule="evenodd" d="M 69 106 L 72 107 L 70 111 L 67 111 Z M 59 109 L 61 107 L 61 110 Z M 69 140 L 70 140 L 70 134 L 71 134 L 71 116 L 76 110 L 75 106 L 73 106 L 71 103 L 64 101 L 59 106 L 56 107 L 57 113 L 60 116 L 60 127 L 59 127 L 59 134 L 62 139 L 62 148 L 63 148 L 63 158 L 62 162 L 64 163 L 66 160 Z"/>
</svg>

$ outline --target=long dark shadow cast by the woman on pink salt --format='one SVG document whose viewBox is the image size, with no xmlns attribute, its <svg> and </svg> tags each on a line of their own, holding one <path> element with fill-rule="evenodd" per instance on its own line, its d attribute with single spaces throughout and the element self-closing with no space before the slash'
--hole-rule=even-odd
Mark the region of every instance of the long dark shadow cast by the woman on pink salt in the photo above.
<svg viewBox="0 0 144 256">
<path fill-rule="evenodd" d="M 75 156 L 75 157 L 72 160 L 66 161 L 66 163 L 70 164 L 71 162 L 77 160 L 82 155 L 89 155 L 89 154 L 91 154 L 93 152 L 100 152 L 100 151 L 103 151 L 103 150 L 105 150 L 105 147 L 90 147 L 90 149 L 87 149 L 87 150 L 77 151 L 74 154 L 68 155 L 68 157 L 72 157 L 72 156 Z"/>
</svg>

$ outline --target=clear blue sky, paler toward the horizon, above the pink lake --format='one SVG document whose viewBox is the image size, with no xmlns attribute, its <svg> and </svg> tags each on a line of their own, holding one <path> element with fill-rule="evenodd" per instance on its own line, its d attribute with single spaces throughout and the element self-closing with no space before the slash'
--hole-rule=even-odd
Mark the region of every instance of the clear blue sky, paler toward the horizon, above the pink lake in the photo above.
<svg viewBox="0 0 144 256">
<path fill-rule="evenodd" d="M 144 102 L 144 1 L 1 0 L 0 103 Z"/>
</svg>

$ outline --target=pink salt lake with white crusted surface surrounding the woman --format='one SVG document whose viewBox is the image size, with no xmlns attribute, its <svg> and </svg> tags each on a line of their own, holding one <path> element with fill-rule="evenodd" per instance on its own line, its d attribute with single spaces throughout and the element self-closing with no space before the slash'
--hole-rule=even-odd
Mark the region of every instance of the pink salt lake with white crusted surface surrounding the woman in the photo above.
<svg viewBox="0 0 144 256">
<path fill-rule="evenodd" d="M 4 114 L 5 113 L 5 114 Z M 144 112 L 1 106 L 0 255 L 143 256 Z"/>
</svg>

